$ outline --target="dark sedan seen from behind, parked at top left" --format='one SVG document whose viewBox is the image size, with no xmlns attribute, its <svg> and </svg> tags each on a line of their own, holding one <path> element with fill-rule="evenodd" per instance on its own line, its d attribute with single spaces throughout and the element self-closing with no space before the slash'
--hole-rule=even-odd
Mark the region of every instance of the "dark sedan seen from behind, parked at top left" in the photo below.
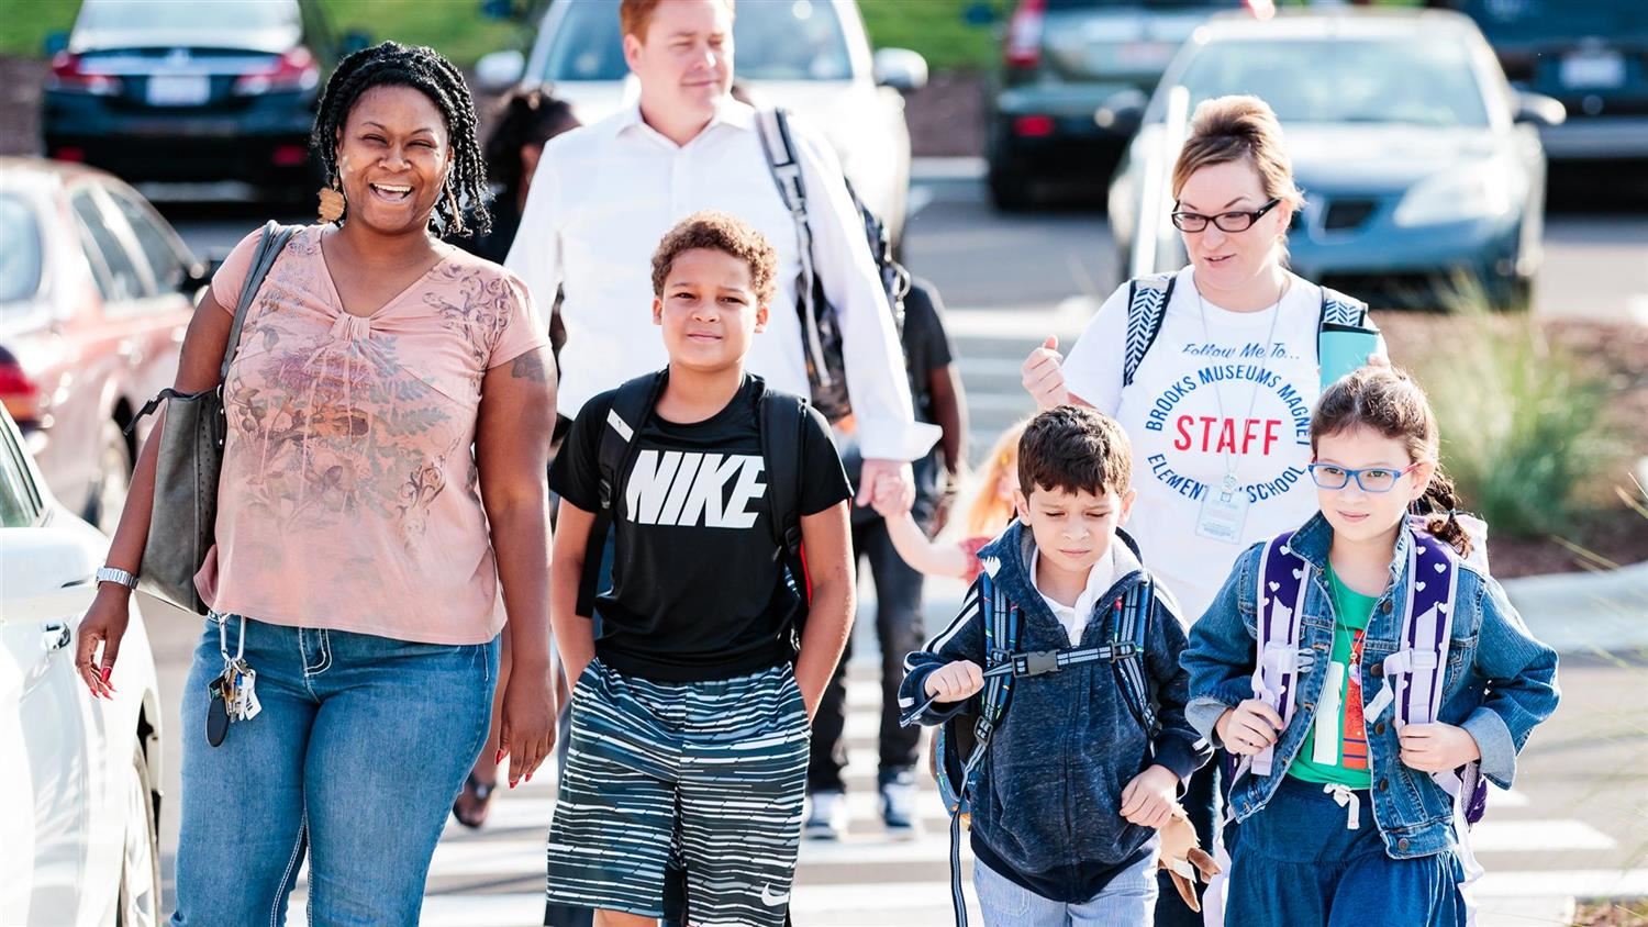
<svg viewBox="0 0 1648 927">
<path fill-rule="evenodd" d="M 129 181 L 239 179 L 315 189 L 308 135 L 323 77 L 366 38 L 335 38 L 313 0 L 86 0 L 46 41 L 46 156 Z"/>
</svg>

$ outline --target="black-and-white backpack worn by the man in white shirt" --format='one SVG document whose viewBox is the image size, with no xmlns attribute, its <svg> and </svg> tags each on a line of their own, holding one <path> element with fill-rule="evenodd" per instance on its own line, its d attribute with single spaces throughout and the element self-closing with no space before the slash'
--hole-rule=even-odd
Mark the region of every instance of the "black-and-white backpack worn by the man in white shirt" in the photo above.
<svg viewBox="0 0 1648 927">
<path fill-rule="evenodd" d="M 836 306 L 824 293 L 824 282 L 819 280 L 812 267 L 812 227 L 808 224 L 808 189 L 801 179 L 801 161 L 796 158 L 794 138 L 789 133 L 789 114 L 783 109 L 756 110 L 756 127 L 761 133 L 761 147 L 766 150 L 766 163 L 773 171 L 773 183 L 778 194 L 789 209 L 796 222 L 796 237 L 801 244 L 801 278 L 796 283 L 796 313 L 801 316 L 803 354 L 808 362 L 808 385 L 812 394 L 812 407 L 824 413 L 831 423 L 852 415 L 852 397 L 847 395 L 847 364 L 842 359 L 840 319 Z M 845 178 L 844 178 L 845 179 Z M 893 313 L 893 328 L 901 334 L 905 323 L 905 295 L 910 293 L 910 272 L 893 260 L 892 237 L 887 226 L 864 206 L 852 181 L 847 181 L 847 194 L 859 207 L 864 221 L 864 237 L 870 249 L 870 259 L 882 278 L 882 290 L 887 293 L 887 306 Z"/>
</svg>

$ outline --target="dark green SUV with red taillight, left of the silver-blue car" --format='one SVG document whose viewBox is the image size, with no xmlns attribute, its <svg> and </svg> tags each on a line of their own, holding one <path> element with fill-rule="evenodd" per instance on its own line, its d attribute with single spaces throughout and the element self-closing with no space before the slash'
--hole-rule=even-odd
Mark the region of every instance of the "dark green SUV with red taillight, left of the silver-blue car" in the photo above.
<svg viewBox="0 0 1648 927">
<path fill-rule="evenodd" d="M 1178 46 L 1208 16 L 1269 15 L 1269 0 L 1018 0 L 990 86 L 986 132 L 990 199 L 1035 203 L 1038 181 L 1093 176 L 1121 160 L 1131 125 L 1111 100 L 1142 104 Z M 1094 119 L 1094 114 L 1101 114 Z"/>
</svg>

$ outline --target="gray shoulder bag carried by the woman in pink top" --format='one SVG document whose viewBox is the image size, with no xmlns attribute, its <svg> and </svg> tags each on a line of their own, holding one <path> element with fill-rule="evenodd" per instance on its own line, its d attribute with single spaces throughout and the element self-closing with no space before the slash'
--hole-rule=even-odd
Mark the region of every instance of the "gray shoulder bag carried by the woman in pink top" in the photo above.
<svg viewBox="0 0 1648 927">
<path fill-rule="evenodd" d="M 241 301 L 234 306 L 234 324 L 218 369 L 218 385 L 193 394 L 162 390 L 127 426 L 132 431 L 138 420 L 155 412 L 162 402 L 166 403 L 160 454 L 155 459 L 155 507 L 148 519 L 148 542 L 143 545 L 137 588 L 196 614 L 206 614 L 208 608 L 194 589 L 194 575 L 218 540 L 218 476 L 222 471 L 222 441 L 227 433 L 222 382 L 241 347 L 246 311 L 295 231 L 297 226 L 279 222 L 264 226 L 264 237 L 246 272 Z"/>
</svg>

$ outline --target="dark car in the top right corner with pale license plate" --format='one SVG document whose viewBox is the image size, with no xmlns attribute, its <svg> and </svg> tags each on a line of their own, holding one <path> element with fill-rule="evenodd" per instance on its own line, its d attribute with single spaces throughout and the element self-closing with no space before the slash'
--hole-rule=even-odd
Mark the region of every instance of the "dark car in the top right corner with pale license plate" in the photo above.
<svg viewBox="0 0 1648 927">
<path fill-rule="evenodd" d="M 1442 3 L 1477 21 L 1513 86 L 1567 107 L 1539 133 L 1552 163 L 1648 170 L 1648 3 Z"/>
</svg>

